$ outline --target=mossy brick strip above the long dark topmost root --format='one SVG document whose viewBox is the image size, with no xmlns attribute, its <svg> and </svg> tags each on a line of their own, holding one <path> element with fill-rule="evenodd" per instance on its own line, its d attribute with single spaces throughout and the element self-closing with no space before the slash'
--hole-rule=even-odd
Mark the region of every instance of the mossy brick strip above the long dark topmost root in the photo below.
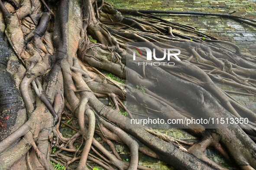
<svg viewBox="0 0 256 170">
<path fill-rule="evenodd" d="M 130 9 L 193 10 L 225 13 L 237 10 L 240 15 L 255 15 L 256 0 L 108 0 L 115 7 Z M 188 8 L 177 8 L 188 6 Z M 253 14 L 254 13 L 254 14 Z M 253 17 L 253 16 L 252 16 Z"/>
</svg>

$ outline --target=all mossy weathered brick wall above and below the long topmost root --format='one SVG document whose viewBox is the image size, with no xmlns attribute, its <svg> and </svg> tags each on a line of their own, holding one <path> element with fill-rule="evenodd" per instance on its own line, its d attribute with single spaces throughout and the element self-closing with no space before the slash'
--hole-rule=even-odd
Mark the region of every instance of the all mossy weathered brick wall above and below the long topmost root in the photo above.
<svg viewBox="0 0 256 170">
<path fill-rule="evenodd" d="M 256 0 L 107 0 L 113 6 L 126 9 L 160 9 L 204 13 L 229 13 L 256 19 Z M 165 15 L 165 19 L 191 25 L 220 40 L 241 45 L 243 52 L 254 54 L 256 28 L 231 19 L 215 16 Z M 250 44 L 250 45 L 249 45 Z"/>
</svg>

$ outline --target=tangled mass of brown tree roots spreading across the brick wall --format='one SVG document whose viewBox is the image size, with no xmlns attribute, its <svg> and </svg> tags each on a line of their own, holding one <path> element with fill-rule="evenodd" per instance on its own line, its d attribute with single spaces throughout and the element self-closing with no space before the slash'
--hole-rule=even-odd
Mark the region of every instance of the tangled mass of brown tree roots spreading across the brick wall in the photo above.
<svg viewBox="0 0 256 170">
<path fill-rule="evenodd" d="M 17 66 L 26 69 L 15 74 L 21 79 L 19 89 L 27 120 L 0 142 L 1 168 L 23 164 L 30 170 L 48 170 L 54 169 L 52 164 L 69 168 L 69 164 L 78 161 L 77 169 L 81 170 L 91 168 L 92 164 L 110 170 L 149 170 L 138 165 L 141 151 L 178 169 L 225 169 L 206 157 L 205 149 L 210 146 L 241 169 L 256 168 L 256 113 L 229 94 L 255 96 L 256 59 L 242 54 L 235 44 L 218 41 L 191 26 L 165 21 L 145 11 L 122 10 L 140 15 L 141 19 L 123 16 L 101 0 L 61 0 L 57 4 L 43 0 L 11 2 L 0 1 L 0 22 L 4 23 L 0 29 L 19 59 Z M 194 43 L 189 44 L 190 49 L 183 49 L 178 43 L 191 40 Z M 175 66 L 138 66 L 125 51 L 126 42 L 136 41 L 177 42 L 185 54 L 180 56 L 181 61 L 175 61 Z M 201 41 L 212 44 L 196 43 Z M 129 79 L 143 87 L 144 92 L 130 84 L 125 86 L 100 70 Z M 243 88 L 247 93 L 222 90 L 215 84 L 218 81 Z M 122 103 L 126 95 L 159 117 L 196 117 L 154 91 L 186 101 L 202 115 L 248 117 L 250 123 L 223 129 L 191 126 L 188 132 L 201 139 L 196 143 L 174 139 L 144 126 L 127 127 L 125 122 L 133 115 Z M 105 106 L 97 97 L 109 97 L 112 107 Z M 120 109 L 126 111 L 127 117 L 119 113 Z M 63 113 L 77 119 L 80 127 L 71 127 L 77 133 L 69 139 L 59 132 L 62 124 L 69 126 L 61 121 Z M 110 146 L 112 153 L 94 139 L 94 133 Z M 113 141 L 129 147 L 130 162 L 122 161 Z M 191 147 L 187 150 L 182 145 Z M 51 151 L 52 146 L 58 151 Z"/>
</svg>

